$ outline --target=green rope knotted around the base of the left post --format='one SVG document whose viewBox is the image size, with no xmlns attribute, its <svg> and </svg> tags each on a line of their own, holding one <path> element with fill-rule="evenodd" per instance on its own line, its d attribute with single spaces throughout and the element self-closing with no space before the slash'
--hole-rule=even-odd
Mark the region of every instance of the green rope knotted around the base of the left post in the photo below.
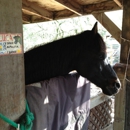
<svg viewBox="0 0 130 130">
<path fill-rule="evenodd" d="M 0 118 L 4 120 L 5 122 L 7 122 L 8 124 L 10 124 L 11 126 L 13 126 L 14 128 L 16 128 L 17 130 L 19 130 L 19 127 L 20 127 L 20 130 L 31 130 L 33 126 L 32 121 L 34 120 L 34 115 L 33 113 L 30 112 L 28 103 L 26 101 L 26 111 L 24 115 L 21 117 L 19 124 L 8 119 L 6 116 L 4 116 L 1 113 L 0 113 Z"/>
</svg>

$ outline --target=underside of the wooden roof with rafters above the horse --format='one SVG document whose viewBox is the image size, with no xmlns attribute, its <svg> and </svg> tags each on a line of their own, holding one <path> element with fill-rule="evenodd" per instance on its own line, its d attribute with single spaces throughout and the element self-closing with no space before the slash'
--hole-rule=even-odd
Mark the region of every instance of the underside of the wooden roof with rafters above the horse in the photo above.
<svg viewBox="0 0 130 130">
<path fill-rule="evenodd" d="M 119 10 L 122 0 L 22 0 L 23 23 Z"/>
</svg>

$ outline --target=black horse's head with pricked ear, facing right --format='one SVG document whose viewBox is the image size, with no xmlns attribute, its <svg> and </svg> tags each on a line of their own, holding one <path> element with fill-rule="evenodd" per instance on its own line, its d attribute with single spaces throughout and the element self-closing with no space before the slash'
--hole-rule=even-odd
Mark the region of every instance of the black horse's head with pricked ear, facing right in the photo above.
<svg viewBox="0 0 130 130">
<path fill-rule="evenodd" d="M 80 62 L 76 66 L 77 72 L 100 87 L 104 94 L 118 93 L 121 84 L 115 71 L 107 63 L 106 45 L 97 31 L 97 23 L 92 30 L 86 31 L 82 35 L 87 44 L 83 45 L 81 50 Z M 85 35 L 87 35 L 86 39 Z"/>
</svg>

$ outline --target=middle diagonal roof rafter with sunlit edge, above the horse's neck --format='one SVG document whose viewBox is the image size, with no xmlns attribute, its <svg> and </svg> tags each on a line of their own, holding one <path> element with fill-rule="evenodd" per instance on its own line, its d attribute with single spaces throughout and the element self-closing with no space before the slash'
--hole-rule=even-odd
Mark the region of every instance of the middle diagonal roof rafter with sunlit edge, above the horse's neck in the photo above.
<svg viewBox="0 0 130 130">
<path fill-rule="evenodd" d="M 56 0 L 60 4 L 62 4 L 66 9 L 69 11 L 72 11 L 73 13 L 77 14 L 77 16 L 80 16 L 83 14 L 82 6 L 76 3 L 73 0 Z"/>
</svg>

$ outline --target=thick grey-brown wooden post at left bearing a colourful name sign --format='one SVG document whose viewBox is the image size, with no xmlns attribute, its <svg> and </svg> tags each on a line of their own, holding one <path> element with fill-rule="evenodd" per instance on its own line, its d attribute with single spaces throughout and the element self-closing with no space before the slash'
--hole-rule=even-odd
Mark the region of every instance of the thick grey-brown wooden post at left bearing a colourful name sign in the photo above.
<svg viewBox="0 0 130 130">
<path fill-rule="evenodd" d="M 0 113 L 13 121 L 25 110 L 21 9 L 21 0 L 0 0 Z M 19 39 L 14 43 L 16 34 Z M 9 129 L 13 128 L 0 119 L 0 130 Z"/>
</svg>

